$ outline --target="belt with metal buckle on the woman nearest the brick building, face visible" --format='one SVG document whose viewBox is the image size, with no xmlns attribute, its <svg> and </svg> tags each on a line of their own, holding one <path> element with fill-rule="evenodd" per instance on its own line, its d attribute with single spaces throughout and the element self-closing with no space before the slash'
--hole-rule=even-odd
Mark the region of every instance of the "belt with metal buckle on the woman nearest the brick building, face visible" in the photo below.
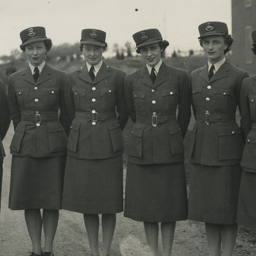
<svg viewBox="0 0 256 256">
<path fill-rule="evenodd" d="M 211 122 L 236 122 L 235 115 L 218 115 L 218 114 L 209 114 L 208 111 L 205 114 L 197 114 L 196 121 L 205 122 L 207 126 L 210 125 Z"/>
</svg>

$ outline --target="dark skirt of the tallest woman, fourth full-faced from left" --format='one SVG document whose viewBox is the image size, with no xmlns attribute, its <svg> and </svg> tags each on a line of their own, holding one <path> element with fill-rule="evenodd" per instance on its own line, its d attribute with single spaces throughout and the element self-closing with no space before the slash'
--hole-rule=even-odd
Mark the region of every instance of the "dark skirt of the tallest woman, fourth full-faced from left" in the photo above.
<svg viewBox="0 0 256 256">
<path fill-rule="evenodd" d="M 236 223 L 242 168 L 190 165 L 188 219 L 213 224 Z"/>
</svg>

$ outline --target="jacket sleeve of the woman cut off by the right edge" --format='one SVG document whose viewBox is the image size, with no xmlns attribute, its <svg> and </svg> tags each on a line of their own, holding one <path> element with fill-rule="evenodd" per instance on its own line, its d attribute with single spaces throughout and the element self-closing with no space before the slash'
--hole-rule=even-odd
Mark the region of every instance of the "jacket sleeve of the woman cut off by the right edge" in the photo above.
<svg viewBox="0 0 256 256">
<path fill-rule="evenodd" d="M 248 98 L 248 79 L 243 80 L 240 93 L 240 114 L 241 114 L 241 130 L 243 132 L 244 140 L 251 131 L 252 121 L 250 114 L 250 103 Z"/>
</svg>

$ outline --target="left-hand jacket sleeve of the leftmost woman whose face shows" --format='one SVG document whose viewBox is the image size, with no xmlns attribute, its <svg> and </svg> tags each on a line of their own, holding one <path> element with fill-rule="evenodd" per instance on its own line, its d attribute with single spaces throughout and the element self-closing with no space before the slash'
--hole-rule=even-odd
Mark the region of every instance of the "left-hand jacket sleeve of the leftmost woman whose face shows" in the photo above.
<svg viewBox="0 0 256 256">
<path fill-rule="evenodd" d="M 11 119 L 13 122 L 14 130 L 16 129 L 18 123 L 20 122 L 22 114 L 20 113 L 19 104 L 17 101 L 15 88 L 14 88 L 14 82 L 12 81 L 12 75 L 9 76 L 8 79 L 8 105 L 10 110 Z"/>
</svg>

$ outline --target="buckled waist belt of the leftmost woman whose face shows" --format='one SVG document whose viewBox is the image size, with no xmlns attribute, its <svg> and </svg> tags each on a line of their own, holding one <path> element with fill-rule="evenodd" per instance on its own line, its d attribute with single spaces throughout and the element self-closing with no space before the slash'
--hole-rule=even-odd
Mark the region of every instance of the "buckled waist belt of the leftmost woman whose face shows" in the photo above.
<svg viewBox="0 0 256 256">
<path fill-rule="evenodd" d="M 37 126 L 41 122 L 58 121 L 57 111 L 24 111 L 22 112 L 21 120 L 23 122 L 35 122 Z"/>
</svg>

